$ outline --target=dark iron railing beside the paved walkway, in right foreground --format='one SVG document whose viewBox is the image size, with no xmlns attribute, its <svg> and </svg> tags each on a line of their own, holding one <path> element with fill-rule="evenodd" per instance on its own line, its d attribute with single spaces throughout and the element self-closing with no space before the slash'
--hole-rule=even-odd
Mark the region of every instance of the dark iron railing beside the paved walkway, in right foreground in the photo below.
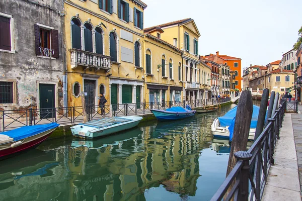
<svg viewBox="0 0 302 201">
<path fill-rule="evenodd" d="M 274 164 L 274 148 L 285 110 L 286 102 L 281 100 L 281 106 L 272 118 L 267 119 L 267 126 L 250 149 L 235 153 L 237 164 L 211 200 L 261 200 L 268 171 Z M 232 184 L 233 187 L 229 189 Z"/>
</svg>

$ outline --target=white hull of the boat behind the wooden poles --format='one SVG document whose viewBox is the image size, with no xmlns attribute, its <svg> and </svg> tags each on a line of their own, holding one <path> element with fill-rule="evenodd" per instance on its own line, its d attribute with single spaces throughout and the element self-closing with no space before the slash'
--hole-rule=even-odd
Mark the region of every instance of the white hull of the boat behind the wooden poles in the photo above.
<svg viewBox="0 0 302 201">
<path fill-rule="evenodd" d="M 221 138 L 221 139 L 226 139 L 226 140 L 230 140 L 230 131 L 228 128 L 229 128 L 229 126 L 221 127 L 218 119 L 215 119 L 211 125 L 211 130 L 212 130 L 213 136 L 216 138 Z M 249 141 L 254 141 L 255 132 L 256 132 L 256 129 L 253 129 L 253 128 L 250 129 L 249 138 L 248 138 Z"/>
</svg>

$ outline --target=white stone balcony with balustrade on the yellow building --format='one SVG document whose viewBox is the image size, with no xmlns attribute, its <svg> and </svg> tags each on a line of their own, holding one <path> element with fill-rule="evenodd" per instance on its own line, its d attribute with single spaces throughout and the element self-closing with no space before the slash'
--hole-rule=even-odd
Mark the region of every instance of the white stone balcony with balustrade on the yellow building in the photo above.
<svg viewBox="0 0 302 201">
<path fill-rule="evenodd" d="M 105 70 L 108 72 L 111 68 L 110 56 L 97 54 L 80 49 L 69 49 L 71 55 L 71 69 L 84 66 L 86 68 L 95 68 L 95 71 Z"/>
</svg>

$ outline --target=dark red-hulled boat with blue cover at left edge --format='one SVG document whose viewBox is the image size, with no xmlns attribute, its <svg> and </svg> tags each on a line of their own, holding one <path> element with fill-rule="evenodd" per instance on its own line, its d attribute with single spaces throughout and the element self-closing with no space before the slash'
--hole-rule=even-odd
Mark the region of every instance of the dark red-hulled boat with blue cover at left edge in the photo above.
<svg viewBox="0 0 302 201">
<path fill-rule="evenodd" d="M 57 123 L 24 126 L 0 133 L 0 160 L 38 146 L 46 140 L 58 126 Z"/>
</svg>

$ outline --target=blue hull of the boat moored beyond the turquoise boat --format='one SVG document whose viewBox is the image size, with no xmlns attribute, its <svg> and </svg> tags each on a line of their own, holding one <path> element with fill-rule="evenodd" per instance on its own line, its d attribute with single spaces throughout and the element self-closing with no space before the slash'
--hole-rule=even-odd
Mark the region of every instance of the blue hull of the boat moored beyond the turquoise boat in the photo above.
<svg viewBox="0 0 302 201">
<path fill-rule="evenodd" d="M 191 113 L 169 113 L 167 111 L 164 112 L 159 110 L 151 111 L 159 121 L 175 121 L 190 118 L 195 115 L 195 111 L 192 111 Z"/>
</svg>

